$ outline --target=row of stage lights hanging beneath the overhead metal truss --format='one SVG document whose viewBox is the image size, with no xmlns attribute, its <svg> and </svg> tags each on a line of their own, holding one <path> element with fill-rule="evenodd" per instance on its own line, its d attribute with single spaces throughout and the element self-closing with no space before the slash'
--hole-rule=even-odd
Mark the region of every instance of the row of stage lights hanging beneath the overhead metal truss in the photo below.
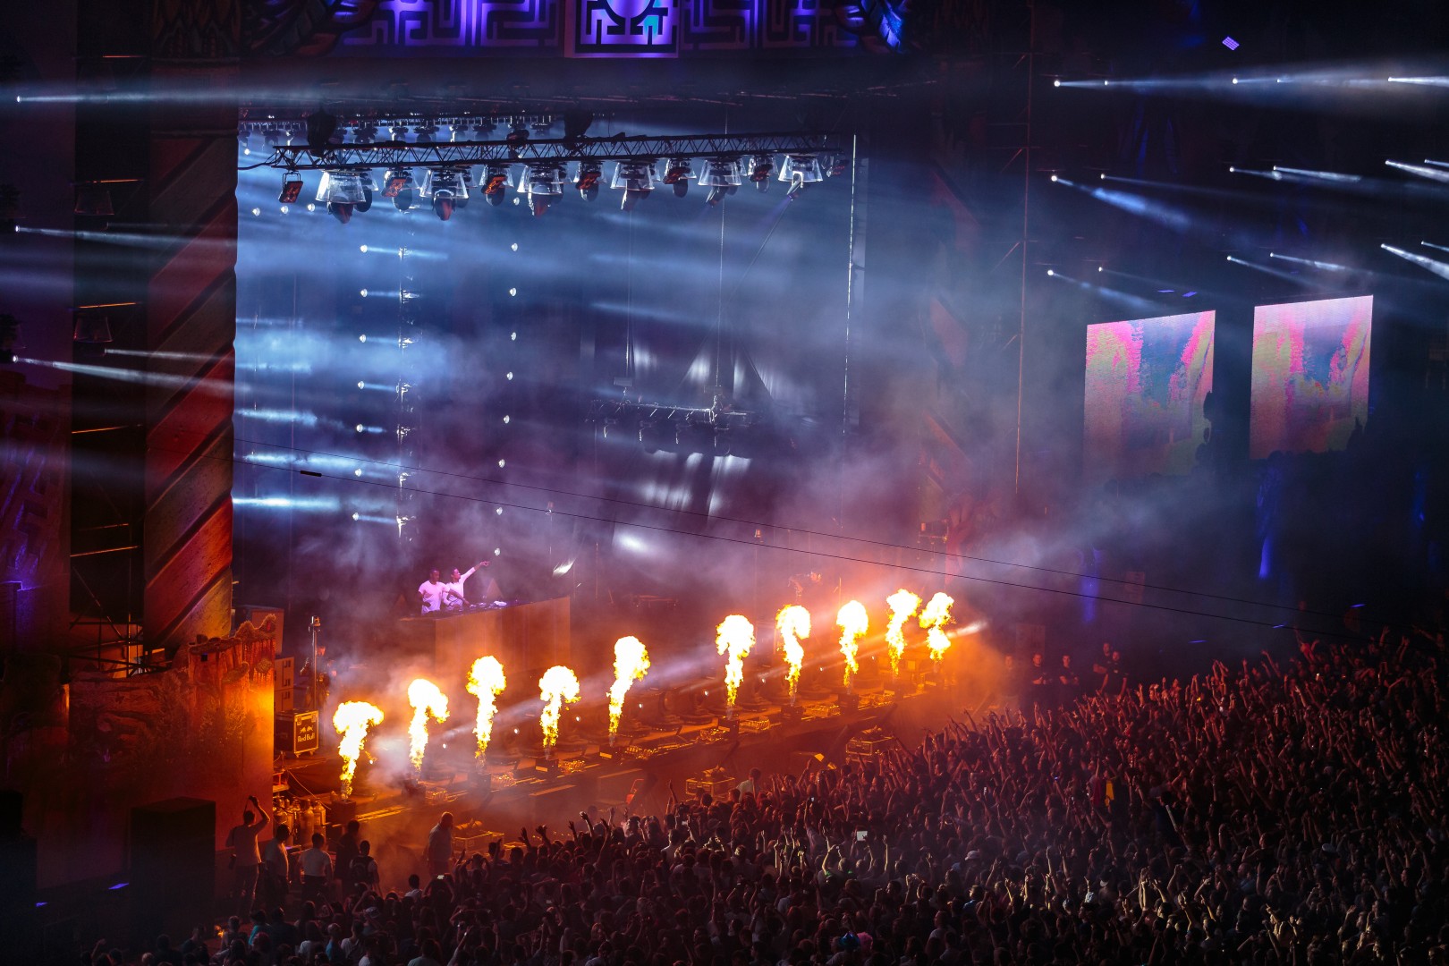
<svg viewBox="0 0 1449 966">
<path fill-rule="evenodd" d="M 620 209 L 632 211 L 661 184 L 682 198 L 688 194 L 690 181 L 696 181 L 701 188 L 709 188 L 704 200 L 714 206 L 746 182 L 758 191 L 768 191 L 771 180 L 778 180 L 790 185 L 785 197 L 796 198 L 811 184 L 845 171 L 842 159 L 829 158 L 824 164 L 816 155 L 785 155 L 778 167 L 771 154 L 709 158 L 698 162 L 698 171 L 694 169 L 696 161 L 669 158 L 662 164 L 658 159 L 613 162 L 609 187 L 623 191 Z M 526 200 L 529 210 L 539 216 L 562 198 L 565 182 L 577 188 L 585 201 L 596 200 L 604 181 L 603 165 L 600 161 L 572 162 L 569 172 L 565 162 L 530 162 L 522 165 L 523 171 L 516 175 L 513 171 L 516 165 L 490 162 L 483 167 L 480 180 L 474 178 L 468 165 L 429 167 L 423 169 L 422 177 L 413 168 L 393 168 L 383 174 L 381 181 L 368 168 L 327 168 L 317 184 L 316 204 L 325 206 L 327 213 L 343 224 L 351 222 L 355 213 L 369 210 L 378 197 L 391 200 L 398 211 L 430 207 L 433 214 L 446 222 L 454 211 L 467 207 L 469 198 L 478 193 L 488 204 L 501 206 L 513 188 L 519 196 L 513 203 Z M 301 172 L 287 171 L 277 200 L 284 206 L 296 204 L 301 198 L 303 187 Z M 310 210 L 313 206 L 307 207 Z"/>
</svg>

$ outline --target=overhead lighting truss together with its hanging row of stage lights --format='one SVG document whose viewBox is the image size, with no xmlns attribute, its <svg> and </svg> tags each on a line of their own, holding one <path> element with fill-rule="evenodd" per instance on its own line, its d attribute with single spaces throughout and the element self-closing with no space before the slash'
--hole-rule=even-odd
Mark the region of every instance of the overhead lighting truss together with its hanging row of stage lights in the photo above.
<svg viewBox="0 0 1449 966">
<path fill-rule="evenodd" d="M 291 185 L 301 172 L 322 171 L 326 188 L 319 187 L 317 200 L 342 222 L 354 211 L 369 207 L 371 193 L 377 191 L 368 174 L 372 168 L 385 171 L 381 194 L 391 198 L 398 210 L 407 211 L 422 198 L 432 204 L 439 219 L 448 220 L 475 191 L 481 191 L 484 200 L 497 206 L 503 204 L 507 190 L 514 185 L 529 198 L 533 214 L 542 214 L 562 196 L 568 164 L 577 164 L 574 187 L 580 196 L 594 200 L 603 181 L 604 162 L 616 162 L 610 185 L 623 191 L 620 207 L 626 211 L 661 182 L 659 158 L 667 159 L 662 182 L 674 188 L 675 196 L 685 196 L 688 182 L 698 181 L 700 187 L 709 188 L 709 204 L 719 204 L 746 180 L 765 191 L 777 177 L 790 185 L 788 197 L 794 198 L 806 187 L 842 174 L 848 167 L 848 155 L 832 135 L 535 139 L 535 135 L 548 133 L 552 119 L 510 117 L 507 125 L 509 135 L 503 140 L 407 142 L 404 138 L 416 129 L 432 138 L 446 126 L 456 138 L 459 132 L 469 129 L 477 135 L 490 135 L 494 123 L 468 117 L 349 122 L 339 130 L 343 138 L 351 138 L 351 143 L 325 146 L 301 143 L 296 135 L 304 132 L 300 127 L 293 130 L 297 125 L 290 122 L 268 120 L 243 127 L 248 127 L 248 136 L 256 132 L 271 139 L 285 136 L 287 143 L 272 143 L 271 154 L 262 164 L 285 172 L 285 191 L 293 190 Z M 381 126 L 387 127 L 393 140 L 368 140 Z M 778 169 L 777 155 L 784 158 Z M 474 165 L 483 168 L 477 185 L 472 182 Z M 513 175 L 516 165 L 523 167 L 517 181 Z M 414 169 L 426 172 L 422 184 L 414 180 Z M 365 198 L 362 185 L 371 185 Z M 300 194 L 301 188 L 296 191 Z"/>
</svg>

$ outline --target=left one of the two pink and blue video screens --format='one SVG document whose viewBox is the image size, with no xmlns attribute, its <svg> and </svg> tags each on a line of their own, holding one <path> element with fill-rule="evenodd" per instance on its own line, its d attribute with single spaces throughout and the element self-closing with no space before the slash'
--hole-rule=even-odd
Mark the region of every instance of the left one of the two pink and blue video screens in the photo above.
<svg viewBox="0 0 1449 966">
<path fill-rule="evenodd" d="M 1187 474 L 1204 442 L 1216 313 L 1087 327 L 1088 481 Z"/>
</svg>

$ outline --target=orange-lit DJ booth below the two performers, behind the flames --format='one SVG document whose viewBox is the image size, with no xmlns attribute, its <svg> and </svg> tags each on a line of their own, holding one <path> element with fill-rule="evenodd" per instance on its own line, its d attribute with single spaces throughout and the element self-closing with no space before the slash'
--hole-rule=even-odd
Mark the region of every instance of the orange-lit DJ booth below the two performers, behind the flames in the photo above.
<svg viewBox="0 0 1449 966">
<path fill-rule="evenodd" d="M 400 650 L 432 655 L 435 681 L 468 679 L 472 662 L 493 656 L 509 681 L 538 681 L 554 665 L 572 665 L 568 598 L 475 607 L 398 621 Z"/>
</svg>

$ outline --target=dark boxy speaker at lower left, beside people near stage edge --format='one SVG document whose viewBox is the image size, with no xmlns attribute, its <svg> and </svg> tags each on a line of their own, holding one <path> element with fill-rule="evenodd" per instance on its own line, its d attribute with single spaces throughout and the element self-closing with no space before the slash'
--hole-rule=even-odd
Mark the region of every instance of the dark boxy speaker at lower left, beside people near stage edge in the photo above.
<svg viewBox="0 0 1449 966">
<path fill-rule="evenodd" d="M 130 810 L 132 921 L 136 936 L 190 936 L 216 910 L 216 802 L 168 798 Z"/>
</svg>

